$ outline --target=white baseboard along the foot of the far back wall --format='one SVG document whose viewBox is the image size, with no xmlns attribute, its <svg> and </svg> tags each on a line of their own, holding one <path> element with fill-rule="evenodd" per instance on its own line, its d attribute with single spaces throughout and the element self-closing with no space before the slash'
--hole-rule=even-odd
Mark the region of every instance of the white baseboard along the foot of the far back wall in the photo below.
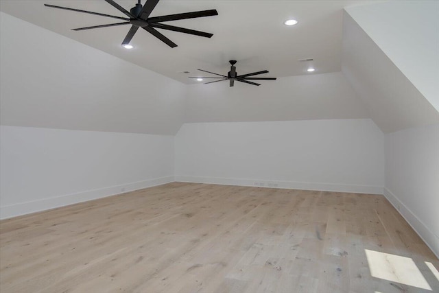
<svg viewBox="0 0 439 293">
<path fill-rule="evenodd" d="M 268 187 L 282 189 L 302 189 L 318 191 L 351 192 L 355 194 L 383 194 L 383 187 L 364 186 L 364 185 L 344 185 L 331 183 L 312 183 L 312 182 L 293 182 L 293 181 L 274 181 L 240 178 L 217 178 L 201 176 L 175 176 L 177 182 L 187 183 L 207 183 L 219 185 L 237 185 L 252 187 Z"/>
</svg>

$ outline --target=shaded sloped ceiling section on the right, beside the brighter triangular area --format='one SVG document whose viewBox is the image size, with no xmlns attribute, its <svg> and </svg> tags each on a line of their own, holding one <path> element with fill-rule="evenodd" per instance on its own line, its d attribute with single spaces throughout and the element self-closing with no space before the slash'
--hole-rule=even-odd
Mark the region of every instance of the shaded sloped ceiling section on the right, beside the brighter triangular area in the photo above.
<svg viewBox="0 0 439 293">
<path fill-rule="evenodd" d="M 373 15 L 370 17 L 374 19 Z M 403 38 L 407 44 L 411 42 L 410 34 L 390 35 L 388 38 Z M 423 51 L 417 51 L 417 54 L 423 54 Z M 342 56 L 342 72 L 383 132 L 439 123 L 438 110 L 347 12 L 344 14 Z M 422 58 L 416 60 L 422 62 Z M 431 64 L 423 65 L 431 67 Z M 431 78 L 429 80 L 433 82 Z"/>
</svg>

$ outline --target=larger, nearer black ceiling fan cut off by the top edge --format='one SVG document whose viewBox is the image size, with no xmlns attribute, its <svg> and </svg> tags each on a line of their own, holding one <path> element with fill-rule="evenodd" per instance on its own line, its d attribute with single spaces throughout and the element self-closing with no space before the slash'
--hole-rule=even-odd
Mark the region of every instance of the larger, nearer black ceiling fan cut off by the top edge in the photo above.
<svg viewBox="0 0 439 293">
<path fill-rule="evenodd" d="M 94 15 L 99 15 L 99 16 L 106 16 L 106 17 L 111 17 L 113 19 L 121 19 L 124 21 L 122 23 L 110 23 L 108 25 L 94 25 L 92 27 L 79 27 L 79 28 L 73 29 L 75 31 L 91 30 L 91 29 L 96 29 L 96 28 L 100 28 L 100 27 L 114 27 L 117 25 L 131 25 L 130 31 L 128 32 L 125 39 L 123 40 L 122 45 L 128 45 L 130 43 L 132 37 L 134 36 L 134 34 L 136 34 L 137 30 L 139 30 L 139 27 L 141 27 L 141 28 L 143 28 L 143 30 L 149 32 L 150 34 L 152 34 L 156 38 L 162 40 L 164 43 L 166 43 L 171 48 L 177 47 L 176 43 L 172 42 L 171 40 L 169 40 L 169 38 L 167 38 L 166 36 L 164 36 L 163 34 L 158 32 L 156 30 L 156 28 L 163 29 L 163 30 L 171 30 L 174 32 L 182 32 L 185 34 L 193 34 L 195 36 L 204 36 L 206 38 L 211 38 L 211 36 L 213 36 L 213 34 L 209 34 L 207 32 L 199 32 L 197 30 L 189 30 L 189 29 L 186 29 L 183 27 L 175 27 L 173 25 L 165 25 L 162 22 L 177 21 L 180 19 L 195 19 L 198 17 L 218 15 L 217 10 L 213 9 L 213 10 L 203 10 L 203 11 L 196 11 L 196 12 L 187 12 L 187 13 L 179 13 L 179 14 L 170 14 L 170 15 L 165 15 L 165 16 L 150 17 L 152 10 L 154 10 L 158 1 L 160 1 L 160 0 L 146 0 L 145 5 L 143 5 L 143 6 L 141 4 L 141 0 L 138 0 L 137 4 L 133 8 L 131 8 L 130 11 L 125 10 L 123 7 L 121 7 L 121 5 L 117 4 L 115 1 L 112 1 L 112 0 L 105 0 L 105 1 L 107 3 L 109 3 L 110 5 L 112 5 L 114 8 L 116 8 L 117 10 L 119 10 L 120 12 L 122 12 L 123 14 L 125 14 L 126 16 L 128 16 L 128 18 L 114 16 L 114 15 L 108 15 L 108 14 L 102 14 L 102 13 L 98 13 L 98 12 L 91 12 L 91 11 L 86 11 L 86 10 L 79 10 L 79 9 L 74 9 L 74 8 L 61 7 L 61 6 L 50 5 L 50 4 L 45 4 L 45 6 L 50 7 L 50 8 L 59 8 L 59 9 L 71 10 L 71 11 L 75 11 L 75 12 L 83 12 L 83 13 L 94 14 Z"/>
</svg>

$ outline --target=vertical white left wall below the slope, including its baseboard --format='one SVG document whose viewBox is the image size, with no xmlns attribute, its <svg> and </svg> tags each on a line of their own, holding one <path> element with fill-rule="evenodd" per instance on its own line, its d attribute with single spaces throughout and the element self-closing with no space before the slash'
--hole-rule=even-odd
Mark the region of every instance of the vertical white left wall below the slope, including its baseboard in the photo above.
<svg viewBox="0 0 439 293">
<path fill-rule="evenodd" d="M 0 126 L 0 216 L 174 181 L 174 137 Z"/>
</svg>

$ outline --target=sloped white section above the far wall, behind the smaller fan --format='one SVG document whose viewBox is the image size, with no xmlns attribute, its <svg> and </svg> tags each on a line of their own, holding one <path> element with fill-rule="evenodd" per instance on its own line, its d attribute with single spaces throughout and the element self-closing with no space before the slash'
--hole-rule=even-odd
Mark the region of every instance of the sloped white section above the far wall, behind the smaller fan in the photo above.
<svg viewBox="0 0 439 293">
<path fill-rule="evenodd" d="M 244 73 L 243 73 L 244 74 Z M 266 74 L 270 76 L 270 74 Z M 186 122 L 289 121 L 368 118 L 340 72 L 187 86 Z"/>
</svg>

